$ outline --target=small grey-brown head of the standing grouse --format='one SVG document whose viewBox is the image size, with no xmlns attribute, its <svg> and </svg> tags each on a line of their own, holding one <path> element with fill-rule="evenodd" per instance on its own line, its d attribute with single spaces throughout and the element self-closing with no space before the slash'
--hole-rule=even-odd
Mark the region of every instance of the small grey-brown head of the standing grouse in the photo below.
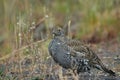
<svg viewBox="0 0 120 80">
<path fill-rule="evenodd" d="M 64 37 L 64 30 L 60 27 L 55 27 L 52 30 L 52 34 L 54 34 L 54 37 Z"/>
</svg>

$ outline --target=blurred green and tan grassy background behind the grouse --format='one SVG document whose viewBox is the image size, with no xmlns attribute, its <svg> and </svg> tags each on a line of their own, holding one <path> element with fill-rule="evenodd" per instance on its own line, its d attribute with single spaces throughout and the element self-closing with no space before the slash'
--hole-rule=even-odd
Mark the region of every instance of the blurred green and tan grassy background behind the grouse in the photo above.
<svg viewBox="0 0 120 80">
<path fill-rule="evenodd" d="M 29 54 L 29 45 L 45 39 L 47 50 L 55 25 L 69 27 L 73 39 L 109 47 L 119 56 L 120 0 L 0 0 L 0 59 L 23 49 Z"/>
</svg>

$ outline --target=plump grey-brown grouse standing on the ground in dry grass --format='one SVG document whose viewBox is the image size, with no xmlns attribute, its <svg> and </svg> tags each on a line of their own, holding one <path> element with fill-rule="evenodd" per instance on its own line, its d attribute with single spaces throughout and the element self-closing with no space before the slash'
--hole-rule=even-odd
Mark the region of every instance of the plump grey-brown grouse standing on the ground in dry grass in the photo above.
<svg viewBox="0 0 120 80">
<path fill-rule="evenodd" d="M 95 52 L 78 40 L 68 39 L 64 30 L 54 28 L 54 37 L 49 44 L 49 53 L 53 60 L 65 69 L 72 69 L 77 74 L 89 72 L 92 68 L 102 70 L 115 76 L 115 72 L 107 69 Z"/>
</svg>

